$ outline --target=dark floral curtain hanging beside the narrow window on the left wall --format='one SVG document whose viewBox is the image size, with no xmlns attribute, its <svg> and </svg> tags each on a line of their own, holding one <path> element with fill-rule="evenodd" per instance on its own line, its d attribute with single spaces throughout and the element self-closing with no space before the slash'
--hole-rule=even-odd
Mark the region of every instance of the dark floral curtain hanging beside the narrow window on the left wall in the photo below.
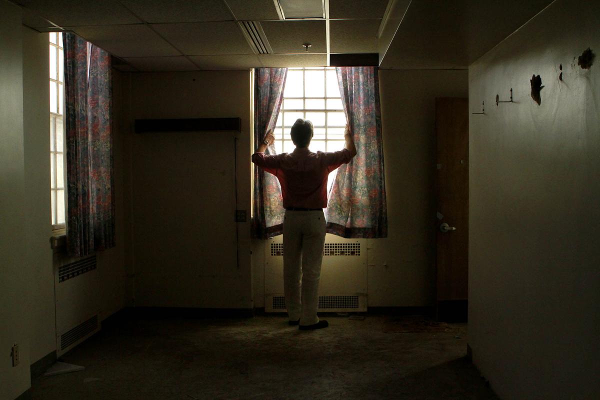
<svg viewBox="0 0 600 400">
<path fill-rule="evenodd" d="M 67 248 L 79 257 L 115 246 L 111 66 L 107 52 L 73 33 L 63 43 Z"/>
</svg>

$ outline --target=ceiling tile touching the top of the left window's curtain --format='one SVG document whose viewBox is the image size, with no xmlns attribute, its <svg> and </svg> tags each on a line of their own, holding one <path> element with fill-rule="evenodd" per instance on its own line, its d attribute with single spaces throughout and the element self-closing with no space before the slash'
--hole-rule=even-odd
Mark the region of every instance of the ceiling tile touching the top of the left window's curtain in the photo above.
<svg viewBox="0 0 600 400">
<path fill-rule="evenodd" d="M 146 25 L 68 28 L 107 52 L 123 57 L 179 56 L 176 49 Z"/>
</svg>

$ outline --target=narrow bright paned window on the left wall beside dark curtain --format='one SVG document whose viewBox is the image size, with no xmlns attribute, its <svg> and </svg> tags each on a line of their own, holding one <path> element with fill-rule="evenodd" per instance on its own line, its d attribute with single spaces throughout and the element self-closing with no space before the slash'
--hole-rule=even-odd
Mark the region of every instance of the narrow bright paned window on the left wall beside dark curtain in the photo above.
<svg viewBox="0 0 600 400">
<path fill-rule="evenodd" d="M 50 196 L 52 227 L 65 226 L 62 34 L 50 32 Z"/>
</svg>

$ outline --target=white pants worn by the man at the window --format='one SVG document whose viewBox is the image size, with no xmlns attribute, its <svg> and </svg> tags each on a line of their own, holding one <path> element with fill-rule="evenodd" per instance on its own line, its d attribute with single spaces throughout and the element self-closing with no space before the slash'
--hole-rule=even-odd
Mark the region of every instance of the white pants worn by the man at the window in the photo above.
<svg viewBox="0 0 600 400">
<path fill-rule="evenodd" d="M 325 243 L 325 215 L 286 211 L 283 221 L 283 287 L 290 321 L 319 322 L 319 278 Z"/>
</svg>

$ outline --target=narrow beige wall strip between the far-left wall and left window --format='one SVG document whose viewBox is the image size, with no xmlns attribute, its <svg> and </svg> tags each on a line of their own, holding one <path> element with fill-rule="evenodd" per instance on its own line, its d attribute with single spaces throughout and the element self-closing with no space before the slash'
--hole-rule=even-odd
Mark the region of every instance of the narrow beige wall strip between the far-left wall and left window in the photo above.
<svg viewBox="0 0 600 400">
<path fill-rule="evenodd" d="M 29 277 L 31 362 L 56 350 L 50 249 L 50 121 L 48 34 L 22 28 L 25 149 L 25 265 Z"/>
</svg>

